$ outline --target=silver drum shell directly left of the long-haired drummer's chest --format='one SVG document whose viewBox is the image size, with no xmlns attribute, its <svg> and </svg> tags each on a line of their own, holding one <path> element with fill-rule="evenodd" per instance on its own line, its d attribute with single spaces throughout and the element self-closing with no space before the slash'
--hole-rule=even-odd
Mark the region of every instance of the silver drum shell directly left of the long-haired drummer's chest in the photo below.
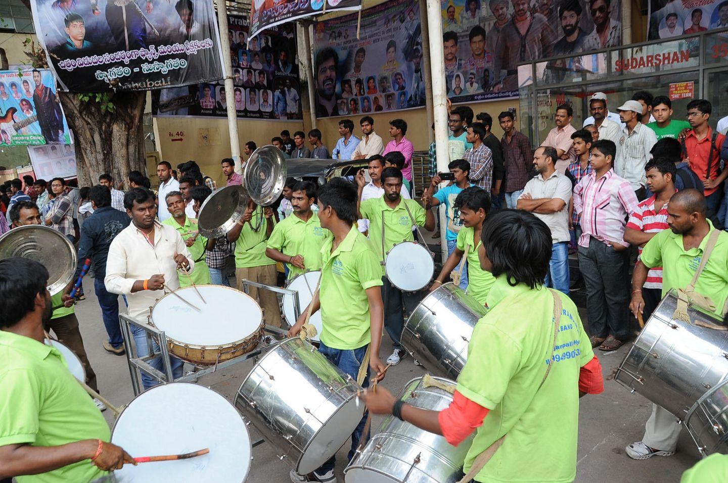
<svg viewBox="0 0 728 483">
<path fill-rule="evenodd" d="M 427 295 L 402 331 L 402 346 L 427 370 L 457 379 L 467 361 L 472 330 L 486 308 L 452 282 Z"/>
</svg>

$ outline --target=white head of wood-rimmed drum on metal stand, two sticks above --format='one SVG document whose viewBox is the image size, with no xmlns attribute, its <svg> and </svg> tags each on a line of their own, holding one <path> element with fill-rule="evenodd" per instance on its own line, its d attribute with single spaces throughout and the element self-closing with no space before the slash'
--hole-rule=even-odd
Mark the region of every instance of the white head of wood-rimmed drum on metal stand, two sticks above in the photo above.
<svg viewBox="0 0 728 483">
<path fill-rule="evenodd" d="M 151 322 L 164 330 L 167 338 L 195 346 L 223 346 L 253 335 L 263 320 L 263 312 L 253 298 L 221 285 L 197 285 L 175 290 L 200 311 L 175 294 L 168 293 L 151 309 Z"/>
</svg>

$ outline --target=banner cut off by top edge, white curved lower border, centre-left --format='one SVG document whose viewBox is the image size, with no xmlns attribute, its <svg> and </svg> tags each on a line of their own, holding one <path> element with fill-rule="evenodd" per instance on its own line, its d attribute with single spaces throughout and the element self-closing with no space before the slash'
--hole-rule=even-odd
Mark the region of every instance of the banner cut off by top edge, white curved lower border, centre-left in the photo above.
<svg viewBox="0 0 728 483">
<path fill-rule="evenodd" d="M 323 13 L 326 0 L 253 0 L 250 2 L 250 37 L 266 28 Z M 328 0 L 326 13 L 359 10 L 362 0 Z"/>
</svg>

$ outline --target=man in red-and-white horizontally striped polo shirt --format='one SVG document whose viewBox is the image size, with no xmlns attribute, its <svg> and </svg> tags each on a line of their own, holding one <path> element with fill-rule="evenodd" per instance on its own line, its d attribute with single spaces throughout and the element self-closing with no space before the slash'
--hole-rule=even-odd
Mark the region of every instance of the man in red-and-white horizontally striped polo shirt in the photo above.
<svg viewBox="0 0 728 483">
<path fill-rule="evenodd" d="M 637 210 L 630 213 L 630 220 L 625 229 L 625 240 L 642 247 L 660 231 L 670 228 L 668 225 L 668 201 L 678 190 L 673 180 L 676 176 L 675 163 L 668 158 L 657 158 L 649 161 L 644 167 L 646 184 L 652 193 L 648 199 L 637 205 Z M 639 292 L 635 290 L 635 292 Z M 633 295 L 635 295 L 633 293 Z M 642 287 L 642 315 L 649 319 L 657 304 L 662 300 L 662 267 L 650 268 Z"/>
</svg>

